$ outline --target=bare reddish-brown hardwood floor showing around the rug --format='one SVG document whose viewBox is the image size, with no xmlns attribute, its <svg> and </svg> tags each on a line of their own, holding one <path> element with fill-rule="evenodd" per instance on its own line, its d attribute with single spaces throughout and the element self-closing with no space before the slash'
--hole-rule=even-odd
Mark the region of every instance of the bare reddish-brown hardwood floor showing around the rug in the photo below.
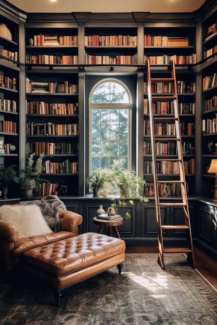
<svg viewBox="0 0 217 325">
<path fill-rule="evenodd" d="M 166 247 L 165 247 L 166 248 Z M 157 246 L 127 246 L 126 254 L 150 254 L 158 253 Z M 217 262 L 197 247 L 194 247 L 196 269 L 206 278 L 217 290 Z M 157 260 L 156 260 L 157 263 Z"/>
</svg>

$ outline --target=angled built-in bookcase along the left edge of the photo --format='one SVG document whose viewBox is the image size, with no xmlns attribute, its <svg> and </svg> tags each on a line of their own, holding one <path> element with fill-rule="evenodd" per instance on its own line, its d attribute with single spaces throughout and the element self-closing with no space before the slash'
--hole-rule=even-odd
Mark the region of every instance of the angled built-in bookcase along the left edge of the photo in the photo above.
<svg viewBox="0 0 217 325">
<path fill-rule="evenodd" d="M 13 19 L 6 13 L 0 13 L 1 23 L 6 24 L 7 28 L 10 30 L 12 35 L 12 40 L 9 40 L 5 37 L 0 37 L 0 50 L 7 50 L 9 52 L 16 52 L 16 59 L 19 60 L 19 21 Z M 15 59 L 11 54 L 2 52 L 10 59 Z M 0 53 L 0 54 L 1 54 Z M 5 56 L 5 55 L 4 55 Z M 16 169 L 19 173 L 20 167 L 20 67 L 16 64 L 7 61 L 7 59 L 0 59 L 0 75 L 4 76 L 2 83 L 0 84 L 0 123 L 2 124 L 2 129 L 0 132 L 0 140 L 7 145 L 5 153 L 2 150 L 0 152 L 0 165 L 16 165 Z M 11 83 L 14 85 L 7 85 L 5 83 L 5 77 L 8 77 L 12 80 Z M 16 80 L 15 80 L 16 79 Z M 16 82 L 16 85 L 15 85 Z M 12 88 L 12 89 L 11 89 Z M 7 121 L 7 122 L 6 122 Z M 7 125 L 6 125 L 7 123 Z M 16 130 L 12 127 L 16 123 Z M 4 129 L 3 129 L 4 125 Z M 16 149 L 14 151 L 9 149 L 9 144 L 14 145 Z M 8 197 L 16 196 L 16 186 L 10 187 L 8 189 Z"/>
</svg>

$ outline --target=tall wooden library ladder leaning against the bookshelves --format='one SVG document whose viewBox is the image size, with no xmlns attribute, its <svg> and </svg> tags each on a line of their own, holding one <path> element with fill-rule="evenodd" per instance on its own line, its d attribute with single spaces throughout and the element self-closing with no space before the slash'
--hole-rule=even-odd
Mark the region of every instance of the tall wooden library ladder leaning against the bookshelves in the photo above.
<svg viewBox="0 0 217 325">
<path fill-rule="evenodd" d="M 180 122 L 179 122 L 179 110 L 178 110 L 178 97 L 177 97 L 177 85 L 176 85 L 176 73 L 175 73 L 175 62 L 174 60 L 170 61 L 170 70 L 171 70 L 171 78 L 169 79 L 151 79 L 150 72 L 150 62 L 147 60 L 145 62 L 147 68 L 147 88 L 148 88 L 148 101 L 149 101 L 149 116 L 150 116 L 150 132 L 151 132 L 151 146 L 152 146 L 152 168 L 154 174 L 154 191 L 155 191 L 155 202 L 156 202 L 156 217 L 157 217 L 157 225 L 158 225 L 158 243 L 159 243 L 159 255 L 158 255 L 158 264 L 164 270 L 164 253 L 187 253 L 187 262 L 195 268 L 194 262 L 194 252 L 193 252 L 193 244 L 191 237 L 191 226 L 190 226 L 190 218 L 188 211 L 188 201 L 187 201 L 187 192 L 185 185 L 185 177 L 184 177 L 184 164 L 183 164 L 183 154 L 182 154 L 182 142 L 181 142 L 181 131 L 180 131 Z M 158 97 L 152 96 L 151 92 L 151 84 L 152 83 L 161 83 L 168 82 L 172 83 L 173 95 L 167 97 Z M 154 94 L 153 94 L 154 95 Z M 174 102 L 174 117 L 153 117 L 153 99 L 157 101 L 168 101 L 173 100 Z M 175 129 L 176 129 L 176 137 L 175 138 L 162 138 L 160 136 L 155 136 L 154 131 L 154 123 L 158 121 L 174 121 Z M 177 141 L 177 151 L 178 151 L 178 159 L 156 159 L 156 147 L 155 141 Z M 179 165 L 179 175 L 180 180 L 177 181 L 158 181 L 157 180 L 157 167 L 156 162 L 162 161 L 171 161 L 178 162 Z M 160 203 L 159 202 L 159 194 L 158 194 L 158 184 L 162 183 L 180 183 L 181 185 L 181 193 L 182 193 L 182 202 L 180 203 Z M 169 199 L 168 199 L 169 201 Z M 160 218 L 160 207 L 176 207 L 182 206 L 184 210 L 184 219 L 185 225 L 161 225 Z M 162 229 L 185 229 L 187 233 L 187 246 L 184 248 L 164 248 L 163 247 L 163 237 L 162 237 Z"/>
</svg>

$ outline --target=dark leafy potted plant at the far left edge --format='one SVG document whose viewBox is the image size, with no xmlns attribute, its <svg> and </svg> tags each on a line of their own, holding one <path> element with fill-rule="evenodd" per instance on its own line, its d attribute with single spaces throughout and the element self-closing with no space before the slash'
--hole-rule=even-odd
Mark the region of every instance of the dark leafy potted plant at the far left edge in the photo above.
<svg viewBox="0 0 217 325">
<path fill-rule="evenodd" d="M 11 166 L 1 166 L 0 167 L 0 183 L 3 188 L 3 199 L 7 199 L 7 189 L 10 181 L 14 181 L 15 183 L 19 182 L 19 178 L 17 177 L 17 172 L 15 171 L 16 165 Z"/>
</svg>

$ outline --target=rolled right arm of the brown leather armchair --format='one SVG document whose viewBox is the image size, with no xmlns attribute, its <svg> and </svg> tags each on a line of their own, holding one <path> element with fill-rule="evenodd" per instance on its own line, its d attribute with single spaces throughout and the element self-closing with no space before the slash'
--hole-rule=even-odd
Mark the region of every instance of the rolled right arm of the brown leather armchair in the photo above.
<svg viewBox="0 0 217 325">
<path fill-rule="evenodd" d="M 78 234 L 78 226 L 82 223 L 82 216 L 80 214 L 61 210 L 60 217 L 60 229 L 65 231 L 71 231 Z"/>
</svg>

